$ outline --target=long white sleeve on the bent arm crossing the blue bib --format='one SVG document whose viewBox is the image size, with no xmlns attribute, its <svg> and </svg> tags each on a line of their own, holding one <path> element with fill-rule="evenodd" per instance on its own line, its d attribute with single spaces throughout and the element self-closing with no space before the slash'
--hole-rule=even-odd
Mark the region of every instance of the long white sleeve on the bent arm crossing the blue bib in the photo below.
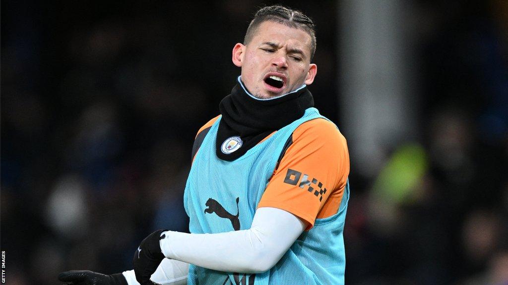
<svg viewBox="0 0 508 285">
<path fill-rule="evenodd" d="M 272 268 L 305 229 L 290 212 L 262 207 L 248 230 L 217 234 L 164 232 L 163 254 L 213 270 L 260 273 Z"/>
</svg>

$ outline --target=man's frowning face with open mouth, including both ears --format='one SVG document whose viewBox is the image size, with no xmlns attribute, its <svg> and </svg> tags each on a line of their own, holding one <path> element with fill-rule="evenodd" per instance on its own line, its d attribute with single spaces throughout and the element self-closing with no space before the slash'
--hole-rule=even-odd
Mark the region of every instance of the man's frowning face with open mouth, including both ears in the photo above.
<svg viewBox="0 0 508 285">
<path fill-rule="evenodd" d="M 277 97 L 314 81 L 317 66 L 310 63 L 310 41 L 304 30 L 266 21 L 246 46 L 235 45 L 233 63 L 241 67 L 252 95 Z"/>
</svg>

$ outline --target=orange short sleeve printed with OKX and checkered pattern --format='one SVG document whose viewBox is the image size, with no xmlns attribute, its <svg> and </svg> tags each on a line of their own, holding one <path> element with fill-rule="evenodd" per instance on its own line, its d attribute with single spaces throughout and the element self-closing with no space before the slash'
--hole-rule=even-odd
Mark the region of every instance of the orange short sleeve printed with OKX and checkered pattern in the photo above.
<svg viewBox="0 0 508 285">
<path fill-rule="evenodd" d="M 315 119 L 293 132 L 288 148 L 258 204 L 289 211 L 307 223 L 334 215 L 350 164 L 344 136 L 333 123 Z"/>
</svg>

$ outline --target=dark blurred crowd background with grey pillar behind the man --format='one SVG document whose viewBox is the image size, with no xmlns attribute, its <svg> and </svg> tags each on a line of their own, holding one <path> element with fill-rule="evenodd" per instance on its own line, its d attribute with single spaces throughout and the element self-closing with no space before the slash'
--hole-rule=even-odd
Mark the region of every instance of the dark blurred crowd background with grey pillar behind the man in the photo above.
<svg viewBox="0 0 508 285">
<path fill-rule="evenodd" d="M 8 284 L 128 270 L 188 231 L 194 136 L 269 4 L 2 1 Z M 508 2 L 282 4 L 315 21 L 309 89 L 350 148 L 346 284 L 508 284 Z"/>
</svg>

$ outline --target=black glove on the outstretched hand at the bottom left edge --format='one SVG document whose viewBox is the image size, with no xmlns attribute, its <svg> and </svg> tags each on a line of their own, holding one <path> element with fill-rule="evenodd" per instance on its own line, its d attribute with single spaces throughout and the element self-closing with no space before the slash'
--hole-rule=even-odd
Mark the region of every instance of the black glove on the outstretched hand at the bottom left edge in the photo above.
<svg viewBox="0 0 508 285">
<path fill-rule="evenodd" d="M 58 274 L 58 280 L 75 285 L 128 285 L 122 273 L 105 275 L 90 270 L 71 270 Z"/>
</svg>

